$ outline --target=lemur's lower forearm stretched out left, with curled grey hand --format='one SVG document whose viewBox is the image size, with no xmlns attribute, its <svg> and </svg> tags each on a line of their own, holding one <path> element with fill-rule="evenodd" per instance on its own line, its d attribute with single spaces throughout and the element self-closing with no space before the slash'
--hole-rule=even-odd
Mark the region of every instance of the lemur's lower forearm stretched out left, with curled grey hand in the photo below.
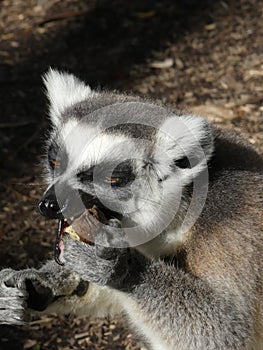
<svg viewBox="0 0 263 350">
<path fill-rule="evenodd" d="M 24 325 L 32 313 L 107 316 L 120 306 L 108 288 L 48 261 L 42 268 L 0 271 L 0 324 Z"/>
</svg>

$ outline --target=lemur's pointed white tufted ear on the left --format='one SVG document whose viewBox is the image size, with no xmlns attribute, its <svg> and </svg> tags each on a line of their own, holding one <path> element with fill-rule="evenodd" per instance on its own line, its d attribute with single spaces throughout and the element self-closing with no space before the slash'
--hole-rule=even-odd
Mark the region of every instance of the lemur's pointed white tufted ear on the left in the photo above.
<svg viewBox="0 0 263 350">
<path fill-rule="evenodd" d="M 49 69 L 43 76 L 49 99 L 49 114 L 53 125 L 60 123 L 61 114 L 73 104 L 85 100 L 91 96 L 89 86 L 72 74 Z"/>
</svg>

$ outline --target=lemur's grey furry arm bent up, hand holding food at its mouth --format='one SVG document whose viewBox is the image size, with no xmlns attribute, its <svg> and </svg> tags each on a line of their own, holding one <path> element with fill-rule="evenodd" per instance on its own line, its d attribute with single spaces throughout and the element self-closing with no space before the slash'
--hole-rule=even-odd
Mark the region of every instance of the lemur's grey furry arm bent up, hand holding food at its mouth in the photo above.
<svg viewBox="0 0 263 350">
<path fill-rule="evenodd" d="M 64 241 L 65 266 L 85 280 L 120 291 L 124 308 L 153 349 L 247 348 L 250 317 L 236 296 L 132 249 Z"/>
</svg>

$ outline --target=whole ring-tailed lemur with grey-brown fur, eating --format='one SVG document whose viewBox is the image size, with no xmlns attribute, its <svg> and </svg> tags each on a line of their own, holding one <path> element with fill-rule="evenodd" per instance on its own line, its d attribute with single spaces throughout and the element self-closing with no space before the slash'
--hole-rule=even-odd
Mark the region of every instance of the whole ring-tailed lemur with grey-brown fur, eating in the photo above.
<svg viewBox="0 0 263 350">
<path fill-rule="evenodd" d="M 44 81 L 40 211 L 63 226 L 96 205 L 107 224 L 95 244 L 60 232 L 64 266 L 3 270 L 1 322 L 125 312 L 154 350 L 263 349 L 262 158 L 201 117 L 53 70 Z"/>
</svg>

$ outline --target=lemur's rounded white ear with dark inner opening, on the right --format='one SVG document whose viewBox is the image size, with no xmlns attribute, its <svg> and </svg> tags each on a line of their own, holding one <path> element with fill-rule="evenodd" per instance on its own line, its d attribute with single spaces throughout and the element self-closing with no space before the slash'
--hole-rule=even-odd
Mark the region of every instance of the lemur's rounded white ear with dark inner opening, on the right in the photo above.
<svg viewBox="0 0 263 350">
<path fill-rule="evenodd" d="M 161 176 L 180 170 L 185 182 L 199 174 L 213 153 L 213 130 L 199 116 L 168 118 L 157 133 L 155 158 Z"/>
</svg>

